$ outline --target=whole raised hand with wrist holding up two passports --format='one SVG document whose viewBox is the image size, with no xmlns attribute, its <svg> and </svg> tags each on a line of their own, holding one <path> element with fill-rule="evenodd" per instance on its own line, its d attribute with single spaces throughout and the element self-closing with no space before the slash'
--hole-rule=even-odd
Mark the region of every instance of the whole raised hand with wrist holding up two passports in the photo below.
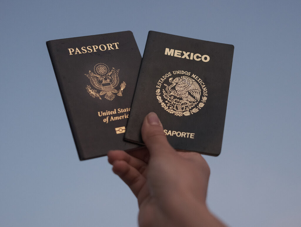
<svg viewBox="0 0 301 227">
<path fill-rule="evenodd" d="M 155 113 L 141 128 L 146 148 L 109 151 L 108 161 L 138 199 L 141 227 L 224 226 L 206 207 L 209 166 L 196 152 L 175 151 Z"/>
</svg>

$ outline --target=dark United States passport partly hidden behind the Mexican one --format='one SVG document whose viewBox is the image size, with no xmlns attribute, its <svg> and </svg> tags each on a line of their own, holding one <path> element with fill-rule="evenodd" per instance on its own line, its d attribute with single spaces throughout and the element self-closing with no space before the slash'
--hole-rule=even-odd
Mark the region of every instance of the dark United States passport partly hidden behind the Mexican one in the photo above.
<svg viewBox="0 0 301 227">
<path fill-rule="evenodd" d="M 141 63 L 132 32 L 46 44 L 79 159 L 136 148 L 123 140 Z"/>
</svg>

